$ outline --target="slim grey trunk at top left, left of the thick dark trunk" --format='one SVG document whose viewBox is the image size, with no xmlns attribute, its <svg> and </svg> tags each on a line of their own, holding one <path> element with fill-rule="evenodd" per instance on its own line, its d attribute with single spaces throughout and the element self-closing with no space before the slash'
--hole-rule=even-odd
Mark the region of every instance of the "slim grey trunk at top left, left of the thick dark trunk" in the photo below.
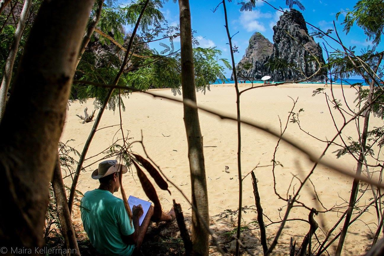
<svg viewBox="0 0 384 256">
<path fill-rule="evenodd" d="M 31 7 L 32 0 L 25 0 L 22 12 L 20 13 L 19 21 L 17 23 L 17 28 L 15 35 L 13 35 L 13 42 L 11 49 L 8 53 L 7 61 L 5 62 L 5 71 L 3 75 L 3 81 L 0 86 L 0 122 L 5 110 L 5 102 L 7 101 L 7 93 L 9 84 L 11 83 L 12 78 L 12 69 L 13 63 L 15 63 L 15 58 L 17 50 L 19 49 L 20 38 L 22 38 L 26 17 L 28 16 L 29 8 Z"/>
</svg>

